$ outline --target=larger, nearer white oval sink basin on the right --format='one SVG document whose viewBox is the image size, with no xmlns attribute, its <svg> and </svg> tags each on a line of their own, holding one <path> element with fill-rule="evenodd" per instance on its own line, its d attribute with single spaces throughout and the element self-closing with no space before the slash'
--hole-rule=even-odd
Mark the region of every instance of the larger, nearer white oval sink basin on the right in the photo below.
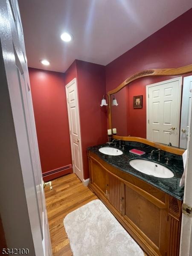
<svg viewBox="0 0 192 256">
<path fill-rule="evenodd" d="M 131 160 L 129 163 L 134 169 L 147 175 L 152 175 L 160 178 L 171 178 L 174 176 L 172 171 L 167 169 L 165 166 L 148 160 L 134 159 Z"/>
</svg>

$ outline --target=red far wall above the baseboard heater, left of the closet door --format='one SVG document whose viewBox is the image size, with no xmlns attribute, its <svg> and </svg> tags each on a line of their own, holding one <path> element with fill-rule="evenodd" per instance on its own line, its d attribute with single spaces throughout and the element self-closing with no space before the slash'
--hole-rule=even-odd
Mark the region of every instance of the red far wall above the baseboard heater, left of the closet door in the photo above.
<svg viewBox="0 0 192 256">
<path fill-rule="evenodd" d="M 29 67 L 42 172 L 72 164 L 64 74 Z"/>
</svg>

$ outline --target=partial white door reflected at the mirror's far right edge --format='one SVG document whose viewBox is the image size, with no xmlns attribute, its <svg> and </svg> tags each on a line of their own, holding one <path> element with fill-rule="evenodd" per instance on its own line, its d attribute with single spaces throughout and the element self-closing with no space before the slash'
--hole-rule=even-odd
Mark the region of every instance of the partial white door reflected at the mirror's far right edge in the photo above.
<svg viewBox="0 0 192 256">
<path fill-rule="evenodd" d="M 189 134 L 189 117 L 191 116 L 191 95 L 192 95 L 192 76 L 183 79 L 183 97 L 180 121 L 180 148 L 187 148 Z"/>
</svg>

